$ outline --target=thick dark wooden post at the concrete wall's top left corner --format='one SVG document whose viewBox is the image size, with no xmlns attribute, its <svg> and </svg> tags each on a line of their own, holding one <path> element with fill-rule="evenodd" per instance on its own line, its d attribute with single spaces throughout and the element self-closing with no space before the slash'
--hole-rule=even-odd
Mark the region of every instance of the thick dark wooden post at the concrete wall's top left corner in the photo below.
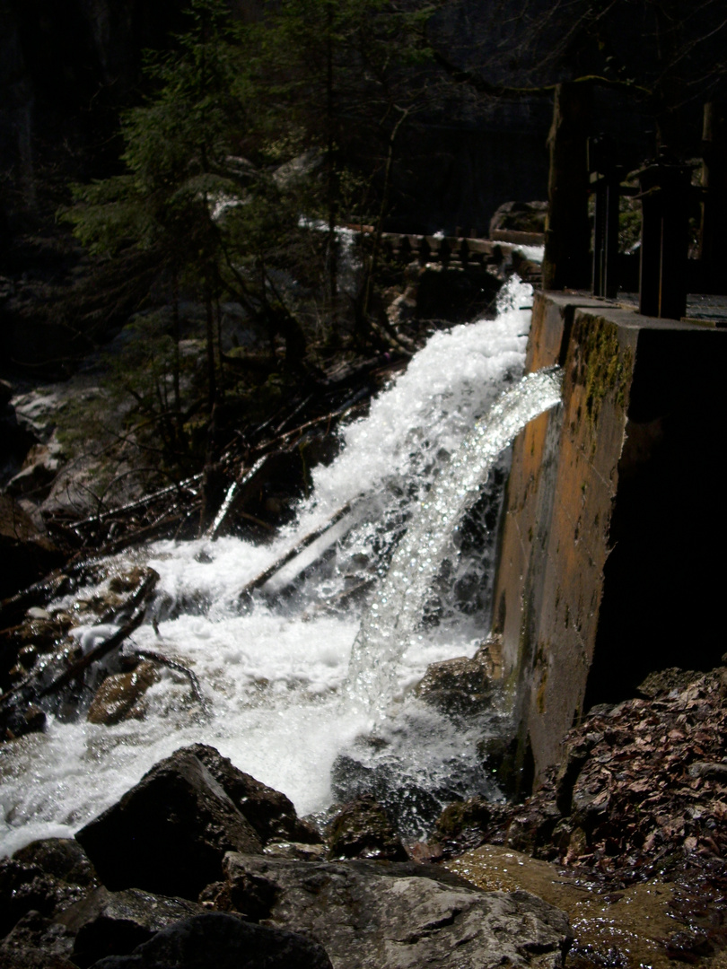
<svg viewBox="0 0 727 969">
<path fill-rule="evenodd" d="M 590 286 L 590 224 L 586 141 L 593 92 L 589 83 L 558 84 L 548 136 L 548 228 L 543 289 Z"/>
</svg>

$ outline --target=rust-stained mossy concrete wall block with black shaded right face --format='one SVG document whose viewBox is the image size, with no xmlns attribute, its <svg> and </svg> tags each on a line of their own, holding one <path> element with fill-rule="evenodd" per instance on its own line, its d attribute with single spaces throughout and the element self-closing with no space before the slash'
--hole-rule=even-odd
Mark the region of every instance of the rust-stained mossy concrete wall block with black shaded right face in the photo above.
<svg viewBox="0 0 727 969">
<path fill-rule="evenodd" d="M 527 369 L 563 366 L 562 406 L 518 437 L 493 632 L 519 703 L 523 781 L 592 703 L 649 670 L 723 651 L 715 501 L 727 444 L 727 333 L 589 297 L 538 294 Z"/>
</svg>

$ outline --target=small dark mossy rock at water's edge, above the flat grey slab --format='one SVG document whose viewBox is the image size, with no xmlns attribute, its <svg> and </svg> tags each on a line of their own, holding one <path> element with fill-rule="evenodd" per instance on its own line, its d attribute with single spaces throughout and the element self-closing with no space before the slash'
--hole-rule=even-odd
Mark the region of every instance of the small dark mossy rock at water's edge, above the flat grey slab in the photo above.
<svg viewBox="0 0 727 969">
<path fill-rule="evenodd" d="M 346 804 L 329 826 L 330 857 L 406 861 L 408 856 L 383 807 L 368 795 Z"/>
</svg>

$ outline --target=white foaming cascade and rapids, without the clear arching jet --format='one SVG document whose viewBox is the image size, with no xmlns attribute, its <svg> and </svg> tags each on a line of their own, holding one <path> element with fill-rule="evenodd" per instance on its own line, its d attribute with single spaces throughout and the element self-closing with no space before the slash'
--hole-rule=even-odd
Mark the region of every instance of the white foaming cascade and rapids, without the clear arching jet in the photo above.
<svg viewBox="0 0 727 969">
<path fill-rule="evenodd" d="M 360 607 L 332 614 L 321 607 L 358 580 L 350 565 L 357 555 L 374 562 L 377 549 L 394 541 L 436 480 L 441 457 L 457 450 L 503 383 L 520 374 L 529 313 L 519 307 L 530 295 L 529 287 L 512 281 L 497 320 L 435 333 L 374 401 L 369 417 L 344 430 L 343 452 L 316 470 L 313 498 L 269 546 L 234 538 L 160 542 L 122 556 L 145 561 L 160 575 L 160 637 L 144 625 L 125 650 L 145 647 L 193 670 L 211 715 L 205 718 L 184 675 L 163 669 L 141 721 L 107 727 L 51 718 L 45 734 L 0 745 L 0 854 L 38 837 L 73 833 L 149 767 L 193 742 L 217 747 L 240 769 L 283 791 L 301 814 L 330 803 L 332 763 L 370 728 L 372 717 L 345 697 L 341 702 Z M 237 596 L 246 582 L 363 493 L 352 516 L 323 540 L 339 548 L 328 573 L 308 579 L 288 604 L 256 594 L 252 608 L 240 612 Z M 297 569 L 300 562 L 287 578 Z M 280 590 L 284 579 L 276 577 L 267 592 Z M 84 648 L 98 640 L 98 630 L 78 635 Z M 427 663 L 471 654 L 477 643 L 478 631 L 466 622 L 415 638 L 398 661 L 396 689 L 405 693 Z M 414 750 L 416 738 L 407 743 Z M 451 736 L 441 740 L 442 764 L 453 745 Z M 433 755 L 425 749 L 422 763 Z"/>
</svg>

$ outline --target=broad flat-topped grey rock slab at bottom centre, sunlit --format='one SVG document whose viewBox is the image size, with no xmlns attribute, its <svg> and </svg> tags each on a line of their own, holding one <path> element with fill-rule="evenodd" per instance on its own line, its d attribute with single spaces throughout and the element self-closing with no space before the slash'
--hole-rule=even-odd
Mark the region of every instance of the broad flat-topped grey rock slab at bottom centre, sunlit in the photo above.
<svg viewBox="0 0 727 969">
<path fill-rule="evenodd" d="M 234 887 L 252 876 L 277 888 L 270 921 L 314 934 L 346 969 L 560 966 L 566 917 L 526 891 L 483 892 L 434 865 L 318 863 L 236 854 Z"/>
</svg>

